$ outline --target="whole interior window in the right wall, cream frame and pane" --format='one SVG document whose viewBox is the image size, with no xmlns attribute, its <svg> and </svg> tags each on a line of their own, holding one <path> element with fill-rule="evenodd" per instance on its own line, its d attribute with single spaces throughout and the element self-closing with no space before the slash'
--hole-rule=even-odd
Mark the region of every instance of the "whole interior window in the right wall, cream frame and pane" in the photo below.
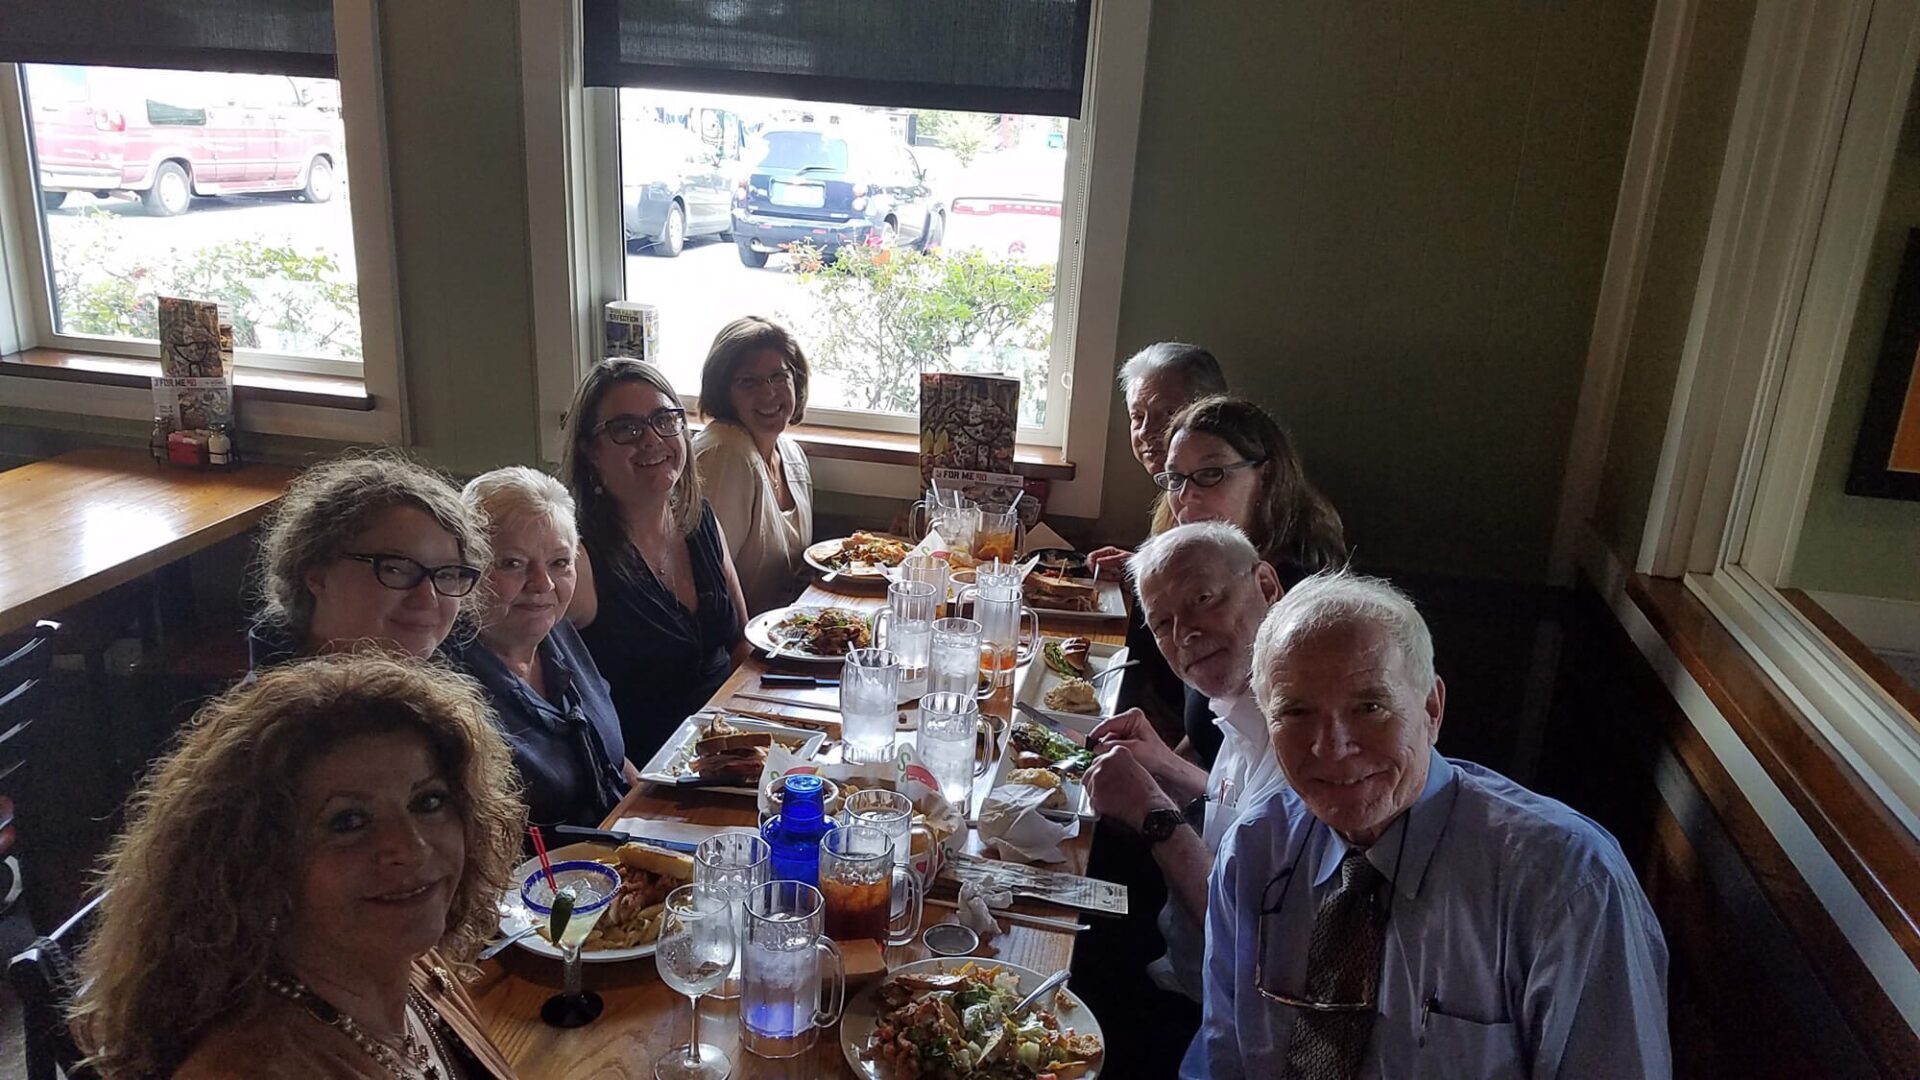
<svg viewBox="0 0 1920 1080">
<path fill-rule="evenodd" d="M 1903 469 L 1870 417 L 1914 423 L 1920 390 L 1916 29 L 1882 4 L 1755 23 L 1640 569 L 1684 577 L 1920 836 L 1920 511 L 1860 482 Z"/>
</svg>

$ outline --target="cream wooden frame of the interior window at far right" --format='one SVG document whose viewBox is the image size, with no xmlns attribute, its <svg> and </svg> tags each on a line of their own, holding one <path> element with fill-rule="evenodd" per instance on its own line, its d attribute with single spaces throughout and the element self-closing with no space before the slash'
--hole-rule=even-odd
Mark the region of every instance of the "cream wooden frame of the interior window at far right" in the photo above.
<svg viewBox="0 0 1920 1080">
<path fill-rule="evenodd" d="M 1755 15 L 1636 569 L 1682 578 L 1920 836 L 1920 723 L 1782 594 L 1920 63 L 1920 12 Z"/>
</svg>

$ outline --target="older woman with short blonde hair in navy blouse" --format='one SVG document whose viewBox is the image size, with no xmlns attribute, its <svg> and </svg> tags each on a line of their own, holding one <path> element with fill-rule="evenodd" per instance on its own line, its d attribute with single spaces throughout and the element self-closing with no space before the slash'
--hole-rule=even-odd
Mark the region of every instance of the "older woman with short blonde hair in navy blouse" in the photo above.
<svg viewBox="0 0 1920 1080">
<path fill-rule="evenodd" d="M 599 826 L 637 773 L 607 680 L 566 621 L 578 580 L 574 498 L 524 465 L 474 477 L 463 494 L 488 523 L 493 565 L 480 636 L 453 657 L 492 698 L 528 817 Z"/>
</svg>

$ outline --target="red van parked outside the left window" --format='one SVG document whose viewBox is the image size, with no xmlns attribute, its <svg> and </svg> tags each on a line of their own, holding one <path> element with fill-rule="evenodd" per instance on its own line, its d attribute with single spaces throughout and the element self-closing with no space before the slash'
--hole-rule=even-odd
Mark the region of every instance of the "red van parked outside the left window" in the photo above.
<svg viewBox="0 0 1920 1080">
<path fill-rule="evenodd" d="M 340 121 L 286 75 L 29 63 L 27 98 L 48 209 L 67 192 L 131 192 L 169 217 L 194 196 L 334 198 Z"/>
</svg>

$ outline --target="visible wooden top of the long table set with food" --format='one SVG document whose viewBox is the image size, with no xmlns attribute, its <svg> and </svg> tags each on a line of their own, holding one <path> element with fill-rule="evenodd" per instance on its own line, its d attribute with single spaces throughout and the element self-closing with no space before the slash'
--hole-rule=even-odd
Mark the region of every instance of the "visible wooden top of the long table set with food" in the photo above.
<svg viewBox="0 0 1920 1080">
<path fill-rule="evenodd" d="M 812 584 L 799 603 L 876 611 L 885 607 L 885 594 L 872 584 L 841 578 L 833 584 Z M 1121 644 L 1125 623 L 1089 623 L 1043 615 L 1041 632 L 1046 636 L 1079 634 L 1092 642 Z M 760 676 L 770 671 L 831 673 L 831 669 L 822 671 L 818 665 L 789 665 L 785 661 L 770 665 L 764 655 L 755 653 L 714 692 L 710 705 L 743 715 L 785 717 L 822 726 L 829 734 L 837 732 L 837 690 L 764 686 Z M 1006 717 L 1010 707 L 1012 686 L 983 701 L 983 711 L 995 717 Z M 979 784 L 975 803 L 985 786 L 985 782 Z M 630 790 L 603 822 L 605 828 L 622 828 L 662 840 L 697 840 L 722 828 L 755 828 L 756 824 L 758 813 L 753 798 L 684 792 L 659 784 L 639 784 Z M 1062 846 L 1066 863 L 1052 863 L 1046 869 L 1083 874 L 1091 844 L 1091 822 L 1083 822 L 1079 836 Z M 972 828 L 964 838 L 956 836 L 956 847 L 987 853 L 977 830 Z M 950 882 L 935 884 L 931 896 L 950 897 Z M 979 949 L 977 955 L 983 961 L 1014 963 L 1041 972 L 1054 972 L 1071 963 L 1077 938 L 1075 932 L 1064 930 L 1060 924 L 1079 924 L 1079 913 L 1037 901 L 1021 901 L 1008 911 L 1010 915 L 1000 920 L 1006 934 L 993 938 Z M 952 920 L 956 920 L 952 907 L 927 905 L 924 924 Z M 889 969 L 927 955 L 918 938 L 914 944 L 885 951 Z M 684 1047 L 687 1042 L 691 1019 L 687 999 L 660 982 L 651 957 L 586 965 L 584 986 L 599 992 L 605 1011 L 591 1024 L 570 1030 L 547 1026 L 540 1019 L 540 1005 L 561 986 L 559 961 L 538 957 L 526 949 L 507 949 L 480 967 L 480 980 L 470 988 L 474 1003 L 493 1042 L 524 1080 L 653 1076 L 655 1059 L 670 1047 Z M 858 988 L 849 986 L 849 1005 L 856 994 Z M 728 1055 L 735 1080 L 860 1076 L 841 1051 L 837 1024 L 822 1030 L 818 1043 L 799 1057 L 764 1059 L 747 1053 L 739 1042 L 739 1001 L 701 999 L 701 1042 L 718 1045 Z"/>
</svg>

